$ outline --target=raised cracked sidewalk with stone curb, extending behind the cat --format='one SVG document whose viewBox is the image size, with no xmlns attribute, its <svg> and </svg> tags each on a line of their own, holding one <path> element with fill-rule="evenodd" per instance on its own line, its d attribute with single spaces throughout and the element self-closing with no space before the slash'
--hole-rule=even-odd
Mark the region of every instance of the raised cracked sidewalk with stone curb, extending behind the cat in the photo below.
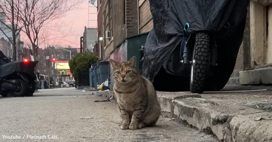
<svg viewBox="0 0 272 142">
<path fill-rule="evenodd" d="M 95 93 L 111 98 L 112 91 Z M 162 115 L 224 141 L 272 141 L 272 91 L 157 92 Z"/>
</svg>

